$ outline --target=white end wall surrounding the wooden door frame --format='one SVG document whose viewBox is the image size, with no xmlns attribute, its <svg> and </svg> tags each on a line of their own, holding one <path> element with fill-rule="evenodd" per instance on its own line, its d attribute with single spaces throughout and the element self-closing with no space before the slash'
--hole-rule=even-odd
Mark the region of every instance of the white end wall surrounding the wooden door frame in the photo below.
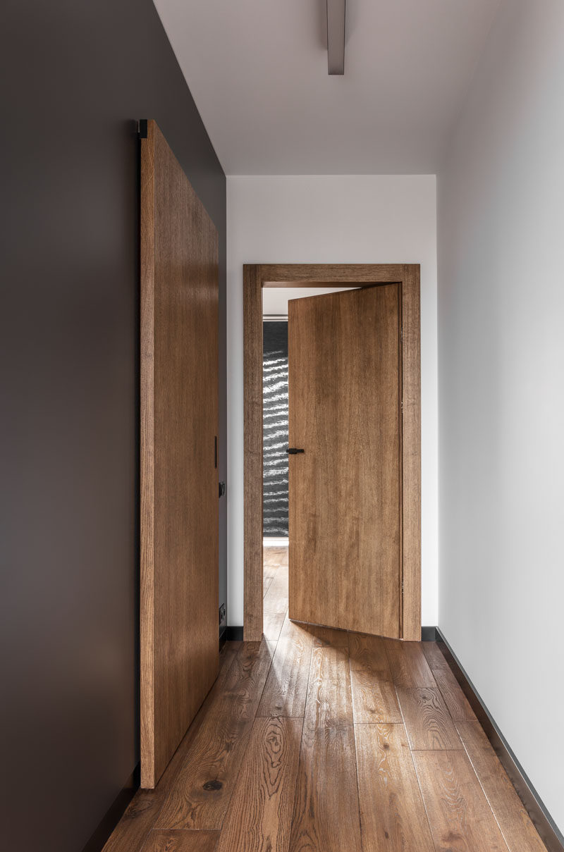
<svg viewBox="0 0 564 852">
<path fill-rule="evenodd" d="M 227 177 L 228 619 L 243 624 L 243 264 L 420 263 L 423 624 L 437 619 L 435 176 Z"/>
</svg>

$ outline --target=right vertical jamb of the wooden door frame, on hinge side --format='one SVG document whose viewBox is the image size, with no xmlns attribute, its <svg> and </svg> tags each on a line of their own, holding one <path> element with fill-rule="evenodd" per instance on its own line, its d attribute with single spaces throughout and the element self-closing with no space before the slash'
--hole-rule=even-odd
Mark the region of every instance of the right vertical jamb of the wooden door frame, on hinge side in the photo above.
<svg viewBox="0 0 564 852">
<path fill-rule="evenodd" d="M 403 638 L 421 639 L 421 316 L 419 267 L 401 279 Z"/>
</svg>

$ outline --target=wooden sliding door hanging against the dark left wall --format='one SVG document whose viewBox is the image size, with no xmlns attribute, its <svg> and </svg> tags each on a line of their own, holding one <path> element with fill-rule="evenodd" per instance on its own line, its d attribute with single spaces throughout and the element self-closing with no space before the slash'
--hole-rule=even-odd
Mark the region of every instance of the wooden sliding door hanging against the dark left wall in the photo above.
<svg viewBox="0 0 564 852">
<path fill-rule="evenodd" d="M 218 666 L 218 242 L 153 121 L 141 140 L 141 786 Z"/>
</svg>

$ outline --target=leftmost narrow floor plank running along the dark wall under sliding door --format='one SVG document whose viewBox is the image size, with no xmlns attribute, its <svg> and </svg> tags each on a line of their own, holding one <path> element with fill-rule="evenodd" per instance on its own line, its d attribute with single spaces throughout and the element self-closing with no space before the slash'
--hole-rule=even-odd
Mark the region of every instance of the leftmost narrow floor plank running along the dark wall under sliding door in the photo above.
<svg viewBox="0 0 564 852">
<path fill-rule="evenodd" d="M 222 693 L 227 675 L 233 665 L 233 660 L 239 653 L 243 642 L 226 642 L 219 655 L 219 672 L 214 686 L 210 690 L 204 704 L 187 730 L 187 734 L 176 749 L 158 785 L 154 790 L 138 790 L 129 803 L 121 820 L 108 838 L 103 852 L 141 852 L 147 840 L 159 811 L 163 806 L 170 790 L 176 784 L 182 763 L 190 750 L 204 719 Z"/>
</svg>

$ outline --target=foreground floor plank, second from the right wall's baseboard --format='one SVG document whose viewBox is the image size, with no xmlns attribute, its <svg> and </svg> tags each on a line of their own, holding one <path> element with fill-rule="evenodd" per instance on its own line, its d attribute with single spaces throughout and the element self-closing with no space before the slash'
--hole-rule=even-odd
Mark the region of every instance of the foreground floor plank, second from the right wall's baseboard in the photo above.
<svg viewBox="0 0 564 852">
<path fill-rule="evenodd" d="M 466 752 L 413 751 L 412 756 L 436 852 L 507 852 Z"/>
</svg>

